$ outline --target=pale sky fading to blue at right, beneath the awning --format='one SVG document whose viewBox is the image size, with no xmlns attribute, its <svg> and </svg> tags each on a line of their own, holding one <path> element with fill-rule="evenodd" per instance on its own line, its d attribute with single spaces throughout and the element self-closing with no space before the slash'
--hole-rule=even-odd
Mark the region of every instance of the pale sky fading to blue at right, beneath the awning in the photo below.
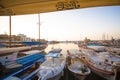
<svg viewBox="0 0 120 80">
<path fill-rule="evenodd" d="M 38 38 L 38 14 L 12 16 L 12 34 Z M 0 34 L 9 34 L 9 17 L 0 16 Z M 90 7 L 40 14 L 40 38 L 101 40 L 120 38 L 120 6 Z"/>
</svg>

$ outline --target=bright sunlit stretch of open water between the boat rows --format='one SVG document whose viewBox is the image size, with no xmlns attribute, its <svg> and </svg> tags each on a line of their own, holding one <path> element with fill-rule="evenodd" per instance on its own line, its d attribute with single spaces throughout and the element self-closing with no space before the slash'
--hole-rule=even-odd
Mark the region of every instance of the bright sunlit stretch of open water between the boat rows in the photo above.
<svg viewBox="0 0 120 80">
<path fill-rule="evenodd" d="M 62 54 L 66 56 L 66 51 L 78 51 L 78 45 L 74 43 L 59 43 L 59 44 L 50 44 L 48 47 L 45 49 L 45 52 L 49 52 L 52 48 L 61 48 L 62 49 Z"/>
</svg>

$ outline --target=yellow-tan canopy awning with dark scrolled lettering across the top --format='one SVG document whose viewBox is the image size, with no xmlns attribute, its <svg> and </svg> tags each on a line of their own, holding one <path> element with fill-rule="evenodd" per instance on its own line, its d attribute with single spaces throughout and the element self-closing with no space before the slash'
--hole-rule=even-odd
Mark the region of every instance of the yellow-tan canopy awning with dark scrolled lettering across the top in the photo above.
<svg viewBox="0 0 120 80">
<path fill-rule="evenodd" d="M 120 5 L 120 0 L 0 0 L 0 16 L 112 5 Z"/>
</svg>

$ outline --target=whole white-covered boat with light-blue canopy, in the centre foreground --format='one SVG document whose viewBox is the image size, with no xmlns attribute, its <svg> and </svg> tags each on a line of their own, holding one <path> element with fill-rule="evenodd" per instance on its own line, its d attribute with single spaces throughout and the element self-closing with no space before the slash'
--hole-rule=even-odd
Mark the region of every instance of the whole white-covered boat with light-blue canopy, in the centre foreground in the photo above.
<svg viewBox="0 0 120 80">
<path fill-rule="evenodd" d="M 61 50 L 61 49 L 60 49 Z M 59 51 L 60 51 L 59 50 Z M 65 58 L 60 56 L 58 49 L 50 51 L 46 57 L 51 57 L 51 59 L 46 60 L 40 65 L 38 72 L 38 80 L 59 80 L 62 76 L 63 69 L 65 67 Z"/>
</svg>

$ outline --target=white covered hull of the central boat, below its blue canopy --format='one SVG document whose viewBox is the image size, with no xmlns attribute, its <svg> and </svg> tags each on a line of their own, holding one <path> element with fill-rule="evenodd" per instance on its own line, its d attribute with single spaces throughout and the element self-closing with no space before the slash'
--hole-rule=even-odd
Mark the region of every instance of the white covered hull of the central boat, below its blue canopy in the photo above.
<svg viewBox="0 0 120 80">
<path fill-rule="evenodd" d="M 47 80 L 59 75 L 65 66 L 65 60 L 60 58 L 55 58 L 54 63 L 52 60 L 45 61 L 40 66 L 40 71 L 38 73 L 38 80 Z"/>
</svg>

